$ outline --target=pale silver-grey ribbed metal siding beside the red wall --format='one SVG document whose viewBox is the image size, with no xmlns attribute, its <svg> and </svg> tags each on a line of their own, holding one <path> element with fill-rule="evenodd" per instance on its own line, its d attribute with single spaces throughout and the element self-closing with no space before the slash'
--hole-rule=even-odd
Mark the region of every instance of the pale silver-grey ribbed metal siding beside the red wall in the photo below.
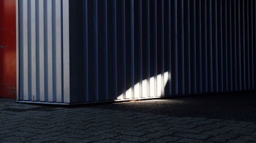
<svg viewBox="0 0 256 143">
<path fill-rule="evenodd" d="M 19 0 L 17 4 L 18 100 L 68 102 L 69 1 Z"/>
</svg>

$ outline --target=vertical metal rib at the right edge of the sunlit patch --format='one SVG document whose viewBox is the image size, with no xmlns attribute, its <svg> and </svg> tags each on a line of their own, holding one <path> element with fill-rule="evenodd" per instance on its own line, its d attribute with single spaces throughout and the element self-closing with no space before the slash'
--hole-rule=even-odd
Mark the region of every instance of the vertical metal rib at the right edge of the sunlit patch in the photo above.
<svg viewBox="0 0 256 143">
<path fill-rule="evenodd" d="M 169 87 L 168 87 L 168 95 L 172 95 L 172 46 L 171 46 L 171 39 L 172 39 L 172 31 L 171 31 L 171 13 L 170 13 L 170 1 L 168 1 L 167 5 L 168 9 L 168 82 L 169 82 Z"/>
</svg>

